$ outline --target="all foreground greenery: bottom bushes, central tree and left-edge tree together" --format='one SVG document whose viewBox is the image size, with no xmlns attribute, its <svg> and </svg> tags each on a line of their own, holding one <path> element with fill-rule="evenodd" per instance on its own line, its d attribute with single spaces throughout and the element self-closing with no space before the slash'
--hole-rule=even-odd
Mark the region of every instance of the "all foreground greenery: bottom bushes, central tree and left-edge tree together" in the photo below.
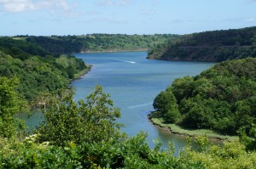
<svg viewBox="0 0 256 169">
<path fill-rule="evenodd" d="M 43 107 L 46 118 L 37 131 L 27 135 L 13 117 L 20 108 L 15 100 L 22 100 L 15 83 L 14 78 L 0 77 L 0 168 L 256 167 L 255 147 L 247 151 L 239 142 L 210 145 L 207 138 L 197 137 L 198 149 L 191 149 L 188 138 L 177 157 L 173 144 L 162 150 L 155 140 L 154 149 L 150 149 L 145 133 L 130 138 L 119 131 L 120 125 L 115 122 L 119 109 L 113 107 L 102 87 L 96 87 L 79 103 L 73 102 L 70 92 L 49 95 Z"/>
</svg>

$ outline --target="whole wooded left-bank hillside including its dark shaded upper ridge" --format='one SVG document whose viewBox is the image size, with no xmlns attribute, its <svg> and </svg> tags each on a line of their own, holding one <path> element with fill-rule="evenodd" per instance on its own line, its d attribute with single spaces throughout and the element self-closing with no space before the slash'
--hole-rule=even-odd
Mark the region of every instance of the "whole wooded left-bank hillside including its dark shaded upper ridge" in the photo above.
<svg viewBox="0 0 256 169">
<path fill-rule="evenodd" d="M 72 55 L 52 56 L 37 44 L 0 38 L 0 76 L 19 79 L 17 90 L 30 103 L 40 102 L 43 93 L 70 88 L 70 80 L 86 68 Z"/>
</svg>

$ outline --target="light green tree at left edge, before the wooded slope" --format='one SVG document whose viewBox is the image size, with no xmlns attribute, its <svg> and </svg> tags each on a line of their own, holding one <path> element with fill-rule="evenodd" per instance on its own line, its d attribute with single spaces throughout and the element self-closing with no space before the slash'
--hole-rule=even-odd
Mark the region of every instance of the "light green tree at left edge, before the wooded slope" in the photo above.
<svg viewBox="0 0 256 169">
<path fill-rule="evenodd" d="M 26 101 L 18 96 L 18 79 L 0 76 L 0 137 L 15 138 L 24 127 L 22 121 L 14 117 L 26 110 Z"/>
</svg>

